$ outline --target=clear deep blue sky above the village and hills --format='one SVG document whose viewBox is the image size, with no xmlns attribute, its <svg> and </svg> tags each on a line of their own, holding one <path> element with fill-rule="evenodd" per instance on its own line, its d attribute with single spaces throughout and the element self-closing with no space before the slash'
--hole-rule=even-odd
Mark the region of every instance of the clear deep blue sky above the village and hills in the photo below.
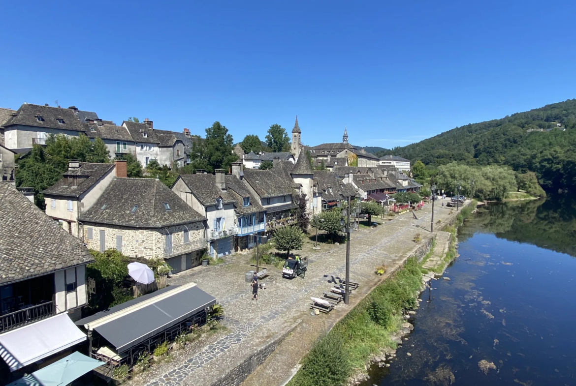
<svg viewBox="0 0 576 386">
<path fill-rule="evenodd" d="M 10 1 L 0 107 L 403 146 L 576 97 L 574 1 Z"/>
</svg>

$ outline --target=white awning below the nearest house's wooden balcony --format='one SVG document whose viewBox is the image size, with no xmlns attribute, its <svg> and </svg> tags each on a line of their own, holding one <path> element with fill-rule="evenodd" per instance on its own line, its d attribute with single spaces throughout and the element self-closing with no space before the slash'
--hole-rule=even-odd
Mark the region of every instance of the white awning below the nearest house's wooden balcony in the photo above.
<svg viewBox="0 0 576 386">
<path fill-rule="evenodd" d="M 63 313 L 0 335 L 0 357 L 14 371 L 85 340 Z"/>
</svg>

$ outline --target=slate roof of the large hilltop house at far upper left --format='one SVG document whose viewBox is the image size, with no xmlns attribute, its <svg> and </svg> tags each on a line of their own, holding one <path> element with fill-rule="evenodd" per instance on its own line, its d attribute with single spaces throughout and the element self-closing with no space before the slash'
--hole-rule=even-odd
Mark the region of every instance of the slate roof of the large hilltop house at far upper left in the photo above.
<svg viewBox="0 0 576 386">
<path fill-rule="evenodd" d="M 37 117 L 42 117 L 39 121 Z M 63 119 L 64 123 L 58 123 Z M 74 110 L 59 107 L 23 104 L 16 112 L 16 116 L 8 120 L 5 127 L 10 125 L 26 125 L 44 129 L 65 129 L 72 131 L 86 131 L 88 125 L 78 119 Z"/>
</svg>

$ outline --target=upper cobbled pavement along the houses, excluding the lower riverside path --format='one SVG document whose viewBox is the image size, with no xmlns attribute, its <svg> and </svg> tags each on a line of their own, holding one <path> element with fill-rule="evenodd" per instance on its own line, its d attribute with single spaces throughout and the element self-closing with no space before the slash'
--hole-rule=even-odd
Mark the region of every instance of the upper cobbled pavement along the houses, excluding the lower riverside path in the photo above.
<svg viewBox="0 0 576 386">
<path fill-rule="evenodd" d="M 445 223 L 452 209 L 438 207 L 434 211 L 435 221 Z M 404 213 L 373 230 L 354 232 L 350 244 L 351 280 L 361 286 L 377 281 L 374 267 L 382 264 L 392 267 L 402 263 L 405 255 L 416 246 L 412 241 L 415 234 L 419 233 L 423 239 L 430 238 L 430 205 L 416 212 L 416 216 L 418 220 L 411 213 Z M 343 280 L 345 257 L 345 245 L 323 246 L 319 253 L 309 256 L 304 279 L 283 279 L 281 270 L 266 266 L 270 277 L 262 280 L 266 289 L 259 291 L 257 301 L 251 300 L 251 288 L 244 280 L 245 273 L 253 269 L 247 254 L 236 254 L 218 267 L 196 267 L 173 276 L 169 284 L 194 281 L 199 288 L 218 299 L 225 309 L 223 323 L 229 328 L 229 333 L 183 362 L 162 364 L 162 370 L 171 368 L 166 368 L 164 375 L 149 379 L 146 373 L 139 374 L 131 384 L 210 385 L 225 374 L 226 365 L 251 353 L 255 341 L 262 342 L 295 318 L 306 315 L 311 296 L 321 297 L 331 288 L 331 283 Z M 344 307 L 342 303 L 336 309 Z"/>
</svg>

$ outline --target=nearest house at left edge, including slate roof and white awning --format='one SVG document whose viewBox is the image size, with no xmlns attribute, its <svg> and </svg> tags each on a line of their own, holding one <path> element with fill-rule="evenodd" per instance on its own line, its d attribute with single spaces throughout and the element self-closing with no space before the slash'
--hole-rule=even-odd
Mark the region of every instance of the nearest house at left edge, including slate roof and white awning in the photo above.
<svg viewBox="0 0 576 386">
<path fill-rule="evenodd" d="M 12 184 L 0 184 L 0 197 L 0 380 L 11 381 L 86 340 L 73 320 L 94 259 Z"/>
</svg>

